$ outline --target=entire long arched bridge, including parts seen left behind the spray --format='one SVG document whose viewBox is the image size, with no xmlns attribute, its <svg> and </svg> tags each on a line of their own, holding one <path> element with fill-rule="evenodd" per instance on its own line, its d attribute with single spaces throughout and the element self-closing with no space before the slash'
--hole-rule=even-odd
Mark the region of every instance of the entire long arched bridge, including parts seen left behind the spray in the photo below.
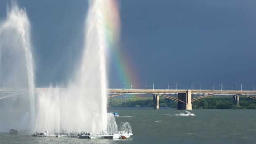
<svg viewBox="0 0 256 144">
<path fill-rule="evenodd" d="M 43 91 L 58 90 L 66 91 L 66 88 L 35 88 L 35 93 Z M 27 93 L 27 89 L 22 88 L 0 88 L 0 93 L 6 93 L 0 99 Z M 11 94 L 10 94 L 11 93 Z M 208 96 L 232 95 L 233 103 L 239 104 L 239 96 L 256 99 L 256 91 L 237 90 L 176 90 L 176 89 L 108 89 L 108 98 L 124 94 L 150 94 L 153 96 L 154 109 L 159 109 L 159 98 L 164 97 L 178 102 L 177 109 L 192 109 L 192 102 Z"/>
</svg>

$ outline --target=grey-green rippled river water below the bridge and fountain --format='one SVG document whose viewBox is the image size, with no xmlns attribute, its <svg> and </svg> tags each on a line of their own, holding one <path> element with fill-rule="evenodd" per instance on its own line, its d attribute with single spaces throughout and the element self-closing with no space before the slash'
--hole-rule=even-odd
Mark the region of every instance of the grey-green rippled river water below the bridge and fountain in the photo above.
<svg viewBox="0 0 256 144">
<path fill-rule="evenodd" d="M 0 144 L 256 144 L 256 110 L 193 109 L 195 116 L 182 116 L 183 110 L 111 108 L 118 112 L 117 124 L 129 122 L 130 139 L 77 139 L 32 137 L 0 133 Z M 178 114 L 178 115 L 176 115 Z"/>
</svg>

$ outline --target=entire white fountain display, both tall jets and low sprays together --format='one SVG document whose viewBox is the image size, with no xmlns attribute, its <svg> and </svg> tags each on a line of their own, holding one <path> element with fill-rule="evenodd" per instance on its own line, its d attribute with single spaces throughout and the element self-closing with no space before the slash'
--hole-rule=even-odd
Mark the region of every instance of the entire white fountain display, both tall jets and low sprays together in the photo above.
<svg viewBox="0 0 256 144">
<path fill-rule="evenodd" d="M 108 37 L 111 35 L 112 38 L 117 39 L 119 31 L 115 0 L 91 0 L 89 5 L 85 20 L 83 53 L 79 66 L 70 77 L 65 91 L 50 87 L 48 91 L 37 94 L 37 101 L 34 99 L 30 27 L 25 9 L 19 8 L 16 2 L 12 2 L 11 8 L 8 8 L 7 20 L 1 24 L 0 34 L 9 37 L 0 41 L 0 50 L 9 44 L 6 41 L 16 40 L 17 44 L 13 45 L 11 42 L 11 46 L 21 47 L 24 53 L 20 54 L 21 50 L 15 49 L 21 57 L 25 58 L 30 123 L 34 136 L 67 136 L 67 133 L 72 133 L 70 136 L 74 136 L 74 133 L 85 131 L 96 134 L 96 137 L 114 138 L 124 133 L 128 135 L 126 137 L 132 135 L 131 125 L 127 123 L 124 123 L 121 131 L 118 132 L 115 117 L 112 113 L 107 113 L 106 57 L 107 50 L 114 43 Z M 111 22 L 106 22 L 107 20 Z M 16 35 L 13 35 L 13 32 Z M 18 61 L 20 59 L 17 57 Z M 24 65 L 18 65 L 24 67 Z M 15 76 L 11 75 L 11 77 Z M 17 88 L 20 86 L 17 85 Z"/>
</svg>

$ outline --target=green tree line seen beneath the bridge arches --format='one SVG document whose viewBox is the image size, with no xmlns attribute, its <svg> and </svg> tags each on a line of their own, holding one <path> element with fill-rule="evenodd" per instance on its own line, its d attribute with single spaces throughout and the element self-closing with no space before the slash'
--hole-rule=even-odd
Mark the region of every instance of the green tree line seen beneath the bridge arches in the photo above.
<svg viewBox="0 0 256 144">
<path fill-rule="evenodd" d="M 115 97 L 108 99 L 108 107 L 154 107 L 152 97 Z M 176 108 L 177 102 L 160 97 L 159 107 Z M 256 100 L 240 96 L 239 105 L 232 96 L 213 96 L 192 102 L 193 109 L 256 109 Z"/>
</svg>

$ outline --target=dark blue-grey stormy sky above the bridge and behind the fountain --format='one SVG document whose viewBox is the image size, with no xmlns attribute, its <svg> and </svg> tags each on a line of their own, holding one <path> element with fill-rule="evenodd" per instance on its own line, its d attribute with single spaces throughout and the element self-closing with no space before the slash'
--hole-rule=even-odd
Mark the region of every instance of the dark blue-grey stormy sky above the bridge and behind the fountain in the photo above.
<svg viewBox="0 0 256 144">
<path fill-rule="evenodd" d="M 0 20 L 6 4 L 0 1 Z M 36 86 L 66 85 L 83 49 L 87 0 L 18 0 L 31 23 Z M 256 88 L 255 0 L 119 0 L 109 88 Z M 117 66 L 117 63 L 121 66 Z M 120 70 L 122 69 L 122 70 Z M 122 73 L 120 73 L 122 72 Z M 120 76 L 118 76 L 120 75 Z"/>
</svg>

